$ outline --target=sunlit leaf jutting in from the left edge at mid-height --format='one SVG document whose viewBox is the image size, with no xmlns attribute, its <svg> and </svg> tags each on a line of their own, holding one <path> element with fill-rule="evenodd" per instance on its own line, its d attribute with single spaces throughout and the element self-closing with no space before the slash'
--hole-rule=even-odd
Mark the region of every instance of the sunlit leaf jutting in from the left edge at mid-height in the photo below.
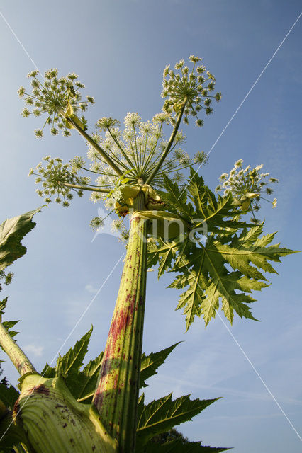
<svg viewBox="0 0 302 453">
<path fill-rule="evenodd" d="M 0 270 L 4 270 L 26 253 L 26 247 L 21 241 L 35 226 L 32 219 L 40 210 L 41 207 L 38 207 L 37 210 L 6 219 L 0 225 Z"/>
</svg>

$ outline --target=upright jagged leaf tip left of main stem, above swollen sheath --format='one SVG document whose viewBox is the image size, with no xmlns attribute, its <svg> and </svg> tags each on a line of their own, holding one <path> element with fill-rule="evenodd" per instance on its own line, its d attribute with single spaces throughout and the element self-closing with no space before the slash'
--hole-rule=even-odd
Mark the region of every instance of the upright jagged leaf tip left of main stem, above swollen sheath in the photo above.
<svg viewBox="0 0 302 453">
<path fill-rule="evenodd" d="M 77 341 L 73 348 L 57 359 L 57 366 L 55 368 L 56 376 L 63 374 L 63 376 L 77 374 L 83 365 L 83 360 L 88 350 L 89 340 L 91 337 L 93 327 L 82 336 L 81 340 Z"/>
</svg>

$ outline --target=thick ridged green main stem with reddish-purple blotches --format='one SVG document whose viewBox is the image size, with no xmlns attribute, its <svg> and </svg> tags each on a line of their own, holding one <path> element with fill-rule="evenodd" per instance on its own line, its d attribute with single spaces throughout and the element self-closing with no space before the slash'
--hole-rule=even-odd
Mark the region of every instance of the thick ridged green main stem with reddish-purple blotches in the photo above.
<svg viewBox="0 0 302 453">
<path fill-rule="evenodd" d="M 144 210 L 144 194 L 134 211 Z M 134 212 L 130 239 L 93 403 L 119 453 L 135 449 L 147 277 L 147 221 Z"/>
</svg>

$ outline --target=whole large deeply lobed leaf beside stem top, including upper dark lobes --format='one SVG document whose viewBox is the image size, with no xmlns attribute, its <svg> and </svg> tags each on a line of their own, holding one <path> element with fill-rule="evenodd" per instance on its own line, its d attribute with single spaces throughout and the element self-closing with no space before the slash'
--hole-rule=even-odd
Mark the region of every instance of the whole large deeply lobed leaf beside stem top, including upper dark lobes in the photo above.
<svg viewBox="0 0 302 453">
<path fill-rule="evenodd" d="M 184 241 L 151 241 L 148 265 L 158 263 L 159 277 L 167 271 L 178 273 L 169 287 L 184 289 L 177 309 L 184 309 L 186 329 L 195 316 L 206 323 L 215 317 L 219 305 L 226 318 L 233 322 L 234 311 L 240 317 L 254 319 L 250 312 L 252 291 L 269 286 L 263 272 L 276 273 L 270 261 L 295 253 L 279 244 L 272 245 L 274 234 L 262 235 L 263 224 L 254 226 L 242 222 L 231 195 L 218 197 L 203 183 L 203 178 L 191 171 L 186 203 L 185 190 L 165 177 L 167 195 L 162 195 L 168 209 L 191 222 L 191 233 Z M 206 224 L 211 234 L 198 239 L 192 233 L 196 218 Z M 206 238 L 206 239 L 205 239 Z"/>
</svg>

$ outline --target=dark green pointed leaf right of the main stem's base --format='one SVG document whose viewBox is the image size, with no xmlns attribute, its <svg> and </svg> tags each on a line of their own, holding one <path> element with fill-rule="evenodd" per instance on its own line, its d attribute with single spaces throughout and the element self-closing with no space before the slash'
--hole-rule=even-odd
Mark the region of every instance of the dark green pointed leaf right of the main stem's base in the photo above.
<svg viewBox="0 0 302 453">
<path fill-rule="evenodd" d="M 219 398 L 208 400 L 191 400 L 189 395 L 172 401 L 172 394 L 144 405 L 144 395 L 138 403 L 138 445 L 144 445 L 160 432 L 167 432 L 175 425 L 191 420 Z"/>
</svg>

